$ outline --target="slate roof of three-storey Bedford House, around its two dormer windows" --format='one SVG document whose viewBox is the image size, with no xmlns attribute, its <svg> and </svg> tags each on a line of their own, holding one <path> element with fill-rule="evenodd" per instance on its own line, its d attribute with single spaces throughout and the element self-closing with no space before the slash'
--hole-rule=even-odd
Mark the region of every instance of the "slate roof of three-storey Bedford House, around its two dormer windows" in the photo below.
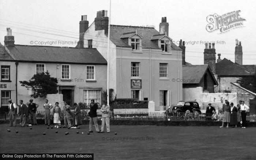
<svg viewBox="0 0 256 160">
<path fill-rule="evenodd" d="M 161 49 L 156 45 L 153 41 L 151 41 L 151 37 L 153 35 L 159 35 L 159 32 L 152 27 L 139 27 L 139 26 L 120 26 L 110 24 L 110 41 L 114 43 L 116 46 L 120 47 L 131 47 L 125 41 L 123 41 L 120 37 L 126 33 L 132 34 L 132 32 L 136 32 L 143 37 L 142 47 L 143 48 L 151 48 L 151 49 Z M 171 43 L 172 49 L 181 50 L 180 47 Z"/>
</svg>

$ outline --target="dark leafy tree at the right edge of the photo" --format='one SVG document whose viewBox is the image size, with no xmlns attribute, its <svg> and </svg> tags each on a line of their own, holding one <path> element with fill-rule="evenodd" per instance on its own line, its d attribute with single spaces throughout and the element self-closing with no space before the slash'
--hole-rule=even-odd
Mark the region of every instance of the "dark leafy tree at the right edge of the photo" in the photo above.
<svg viewBox="0 0 256 160">
<path fill-rule="evenodd" d="M 241 87 L 256 93 L 256 76 L 242 77 L 238 79 L 236 83 L 240 84 Z"/>
</svg>

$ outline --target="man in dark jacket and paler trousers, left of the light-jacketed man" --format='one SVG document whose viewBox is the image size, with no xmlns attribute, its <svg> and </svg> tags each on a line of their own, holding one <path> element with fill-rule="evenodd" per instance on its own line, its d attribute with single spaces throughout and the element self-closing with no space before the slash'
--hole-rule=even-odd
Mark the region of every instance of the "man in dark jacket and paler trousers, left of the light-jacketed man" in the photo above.
<svg viewBox="0 0 256 160">
<path fill-rule="evenodd" d="M 88 113 L 90 116 L 90 122 L 89 122 L 89 131 L 88 132 L 93 132 L 93 122 L 95 125 L 95 130 L 99 132 L 99 126 L 98 126 L 98 122 L 97 122 L 97 109 L 98 109 L 98 104 L 94 103 L 94 99 L 91 100 L 91 104 L 90 104 L 90 112 Z"/>
</svg>

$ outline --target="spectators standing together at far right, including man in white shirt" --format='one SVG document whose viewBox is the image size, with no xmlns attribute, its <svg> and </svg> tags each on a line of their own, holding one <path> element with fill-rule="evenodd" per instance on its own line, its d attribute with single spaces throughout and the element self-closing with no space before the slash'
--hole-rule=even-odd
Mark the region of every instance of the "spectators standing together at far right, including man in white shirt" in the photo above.
<svg viewBox="0 0 256 160">
<path fill-rule="evenodd" d="M 237 107 L 234 106 L 233 103 L 230 103 L 225 100 L 225 104 L 222 106 L 223 114 L 223 120 L 222 120 L 222 126 L 224 127 L 224 123 L 227 123 L 227 128 L 230 126 L 237 127 L 237 122 L 240 122 L 240 113 L 241 113 L 241 127 L 246 128 L 246 112 L 249 111 L 249 107 L 244 104 L 243 100 L 239 101 L 239 104 L 237 104 Z"/>
</svg>

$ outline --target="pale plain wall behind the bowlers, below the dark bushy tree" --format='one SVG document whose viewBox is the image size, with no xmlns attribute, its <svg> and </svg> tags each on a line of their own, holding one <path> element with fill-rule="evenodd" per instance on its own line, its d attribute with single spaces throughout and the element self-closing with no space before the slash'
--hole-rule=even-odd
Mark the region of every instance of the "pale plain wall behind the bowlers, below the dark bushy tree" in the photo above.
<svg viewBox="0 0 256 160">
<path fill-rule="evenodd" d="M 63 110 L 64 102 L 63 102 L 63 95 L 62 94 L 49 94 L 46 97 L 43 98 L 31 98 L 29 95 L 18 95 L 18 101 L 23 100 L 23 103 L 26 104 L 29 102 L 30 99 L 33 99 L 33 103 L 37 103 L 39 107 L 37 108 L 37 111 L 44 111 L 44 104 L 45 100 L 48 99 L 49 103 L 51 103 L 53 106 L 55 106 L 56 102 L 59 102 L 59 106 L 61 107 L 61 110 Z M 19 104 L 19 103 L 18 103 Z"/>
</svg>

